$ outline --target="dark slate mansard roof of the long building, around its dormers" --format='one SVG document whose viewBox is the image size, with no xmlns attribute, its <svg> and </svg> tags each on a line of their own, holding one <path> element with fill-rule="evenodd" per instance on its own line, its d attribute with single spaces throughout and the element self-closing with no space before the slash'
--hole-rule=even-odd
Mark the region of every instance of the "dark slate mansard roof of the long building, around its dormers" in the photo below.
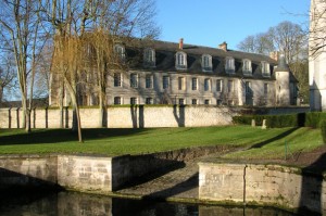
<svg viewBox="0 0 326 216">
<path fill-rule="evenodd" d="M 138 47 L 138 46 L 137 46 Z M 267 62 L 271 66 L 271 77 L 273 78 L 273 68 L 277 65 L 277 62 L 269 56 L 248 53 L 241 51 L 227 50 L 224 51 L 218 48 L 209 48 L 203 46 L 193 46 L 193 45 L 183 45 L 183 49 L 179 49 L 179 43 L 176 42 L 166 42 L 166 41 L 140 41 L 139 51 L 146 48 L 152 48 L 155 50 L 155 67 L 148 68 L 149 71 L 164 71 L 164 72 L 178 72 L 175 67 L 175 54 L 178 51 L 181 51 L 187 54 L 187 69 L 183 69 L 185 73 L 203 73 L 201 65 L 201 58 L 203 54 L 209 54 L 212 56 L 212 72 L 218 76 L 234 76 L 234 77 L 243 77 L 242 73 L 242 60 L 248 59 L 252 63 L 252 78 L 265 79 L 266 77 L 262 76 L 261 73 L 261 62 Z M 130 52 L 131 55 L 135 55 L 135 50 Z M 130 55 L 129 55 L 130 56 Z M 140 54 L 139 56 L 142 56 Z M 226 58 L 235 59 L 235 74 L 226 74 L 225 72 L 225 59 Z M 139 59 L 140 60 L 140 59 Z M 138 61 L 137 64 L 130 66 L 131 68 L 143 68 L 142 60 Z M 134 62 L 135 63 L 135 62 Z M 208 72 L 205 72 L 208 73 Z M 247 76 L 246 76 L 247 78 Z M 248 77 L 250 78 L 250 77 Z M 268 77 L 267 77 L 268 79 Z"/>
</svg>

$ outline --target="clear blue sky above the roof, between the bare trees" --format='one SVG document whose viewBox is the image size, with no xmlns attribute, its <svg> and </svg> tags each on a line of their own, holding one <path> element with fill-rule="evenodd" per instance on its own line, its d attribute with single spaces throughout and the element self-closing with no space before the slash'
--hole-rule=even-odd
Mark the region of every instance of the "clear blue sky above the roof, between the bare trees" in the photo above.
<svg viewBox="0 0 326 216">
<path fill-rule="evenodd" d="M 229 49 L 283 21 L 306 28 L 310 0 L 156 0 L 161 40 Z"/>
</svg>

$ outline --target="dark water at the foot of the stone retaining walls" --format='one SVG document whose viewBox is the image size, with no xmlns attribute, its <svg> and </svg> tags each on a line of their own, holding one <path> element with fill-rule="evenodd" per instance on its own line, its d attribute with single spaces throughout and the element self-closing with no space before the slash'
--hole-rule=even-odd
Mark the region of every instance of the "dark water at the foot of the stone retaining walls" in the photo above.
<svg viewBox="0 0 326 216">
<path fill-rule="evenodd" d="M 274 208 L 242 208 L 114 199 L 59 192 L 0 196 L 2 216 L 290 216 Z"/>
</svg>

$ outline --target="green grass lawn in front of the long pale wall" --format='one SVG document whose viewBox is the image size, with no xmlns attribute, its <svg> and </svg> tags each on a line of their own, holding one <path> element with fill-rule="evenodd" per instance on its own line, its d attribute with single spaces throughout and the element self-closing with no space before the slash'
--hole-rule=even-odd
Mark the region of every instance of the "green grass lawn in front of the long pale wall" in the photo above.
<svg viewBox="0 0 326 216">
<path fill-rule="evenodd" d="M 322 145 L 321 131 L 310 128 L 252 128 L 250 126 L 84 129 L 84 143 L 70 129 L 0 129 L 0 154 L 100 153 L 104 155 L 141 154 L 188 147 L 237 145 L 251 150 L 227 157 L 283 157 L 285 141 L 291 152 L 310 151 Z"/>
</svg>

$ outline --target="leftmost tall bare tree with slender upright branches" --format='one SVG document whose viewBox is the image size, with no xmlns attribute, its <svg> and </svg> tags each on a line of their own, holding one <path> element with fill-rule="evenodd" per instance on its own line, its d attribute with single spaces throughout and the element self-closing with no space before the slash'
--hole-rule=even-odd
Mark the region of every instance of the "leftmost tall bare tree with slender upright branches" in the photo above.
<svg viewBox="0 0 326 216">
<path fill-rule="evenodd" d="M 27 107 L 27 76 L 29 65 L 32 65 L 30 69 L 33 71 L 34 63 L 36 62 L 37 43 L 40 42 L 38 38 L 40 24 L 38 16 L 39 4 L 36 0 L 1 0 L 0 8 L 1 35 L 5 41 L 5 48 L 14 55 L 22 98 L 23 126 L 26 128 L 26 131 L 29 132 L 30 112 Z M 30 87 L 33 88 L 35 72 L 32 74 Z"/>
</svg>

